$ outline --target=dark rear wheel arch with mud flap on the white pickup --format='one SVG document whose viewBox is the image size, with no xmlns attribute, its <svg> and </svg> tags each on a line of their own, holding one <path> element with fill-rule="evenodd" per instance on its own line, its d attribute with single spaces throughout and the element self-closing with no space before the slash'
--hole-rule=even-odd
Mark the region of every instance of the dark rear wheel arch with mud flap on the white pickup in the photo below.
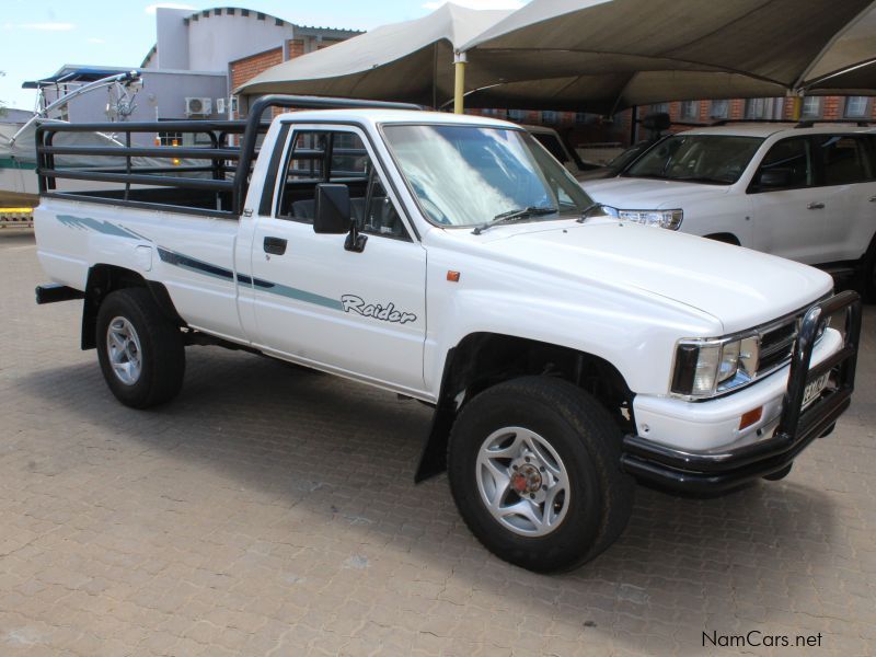
<svg viewBox="0 0 876 657">
<path fill-rule="evenodd" d="M 143 278 L 132 269 L 117 265 L 96 264 L 89 268 L 85 283 L 85 300 L 82 306 L 82 336 L 81 348 L 93 349 L 97 346 L 96 327 L 97 311 L 107 295 L 116 290 L 131 287 L 148 289 L 164 315 L 178 326 L 185 326 L 185 321 L 176 312 L 168 288 L 154 280 Z"/>
</svg>

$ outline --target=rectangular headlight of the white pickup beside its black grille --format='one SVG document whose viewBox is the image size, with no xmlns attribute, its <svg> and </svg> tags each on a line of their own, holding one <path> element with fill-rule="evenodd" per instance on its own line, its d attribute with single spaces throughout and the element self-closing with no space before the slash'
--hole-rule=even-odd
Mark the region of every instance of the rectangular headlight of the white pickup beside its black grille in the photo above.
<svg viewBox="0 0 876 657">
<path fill-rule="evenodd" d="M 703 399 L 748 383 L 757 372 L 757 335 L 719 339 L 682 339 L 676 348 L 673 394 Z"/>
</svg>

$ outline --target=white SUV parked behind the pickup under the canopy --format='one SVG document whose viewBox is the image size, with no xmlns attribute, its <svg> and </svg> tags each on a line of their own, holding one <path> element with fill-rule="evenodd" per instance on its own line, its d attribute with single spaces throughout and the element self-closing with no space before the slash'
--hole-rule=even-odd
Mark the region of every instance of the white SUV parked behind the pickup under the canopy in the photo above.
<svg viewBox="0 0 876 657">
<path fill-rule="evenodd" d="M 659 142 L 619 177 L 584 184 L 625 220 L 749 246 L 876 291 L 876 132 L 737 124 Z"/>
</svg>

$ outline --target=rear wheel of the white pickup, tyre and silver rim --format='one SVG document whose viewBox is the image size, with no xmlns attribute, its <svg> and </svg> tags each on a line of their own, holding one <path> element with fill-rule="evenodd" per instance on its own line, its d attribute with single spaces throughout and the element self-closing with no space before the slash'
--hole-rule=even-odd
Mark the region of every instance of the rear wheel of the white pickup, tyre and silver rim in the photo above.
<svg viewBox="0 0 876 657">
<path fill-rule="evenodd" d="M 97 312 L 97 359 L 110 390 L 134 408 L 169 402 L 183 385 L 182 334 L 146 288 L 117 290 L 104 299 Z"/>
</svg>

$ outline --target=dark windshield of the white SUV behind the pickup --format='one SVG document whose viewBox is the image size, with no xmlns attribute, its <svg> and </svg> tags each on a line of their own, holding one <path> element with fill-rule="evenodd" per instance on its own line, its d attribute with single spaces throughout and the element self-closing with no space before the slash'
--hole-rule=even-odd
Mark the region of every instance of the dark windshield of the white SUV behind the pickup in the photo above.
<svg viewBox="0 0 876 657">
<path fill-rule="evenodd" d="M 760 137 L 676 135 L 652 148 L 623 175 L 731 185 L 762 142 Z"/>
</svg>

